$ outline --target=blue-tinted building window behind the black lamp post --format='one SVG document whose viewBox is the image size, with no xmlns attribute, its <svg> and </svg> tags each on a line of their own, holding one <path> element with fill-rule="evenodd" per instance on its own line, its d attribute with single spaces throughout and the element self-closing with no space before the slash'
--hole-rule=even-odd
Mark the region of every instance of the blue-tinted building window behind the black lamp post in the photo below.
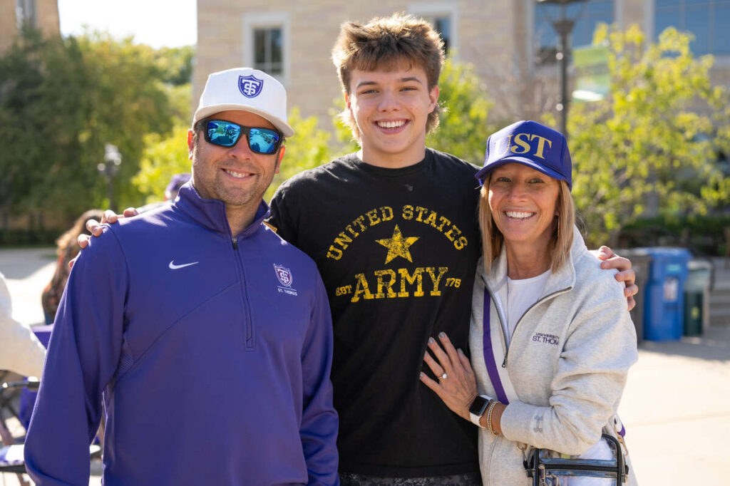
<svg viewBox="0 0 730 486">
<path fill-rule="evenodd" d="M 599 23 L 612 23 L 614 17 L 613 0 L 588 0 L 568 4 L 539 3 L 535 5 L 535 42 L 537 42 L 537 62 L 555 62 L 555 54 L 560 37 L 552 22 L 563 15 L 575 20 L 570 36 L 571 47 L 584 47 L 593 42 L 593 32 Z"/>
</svg>

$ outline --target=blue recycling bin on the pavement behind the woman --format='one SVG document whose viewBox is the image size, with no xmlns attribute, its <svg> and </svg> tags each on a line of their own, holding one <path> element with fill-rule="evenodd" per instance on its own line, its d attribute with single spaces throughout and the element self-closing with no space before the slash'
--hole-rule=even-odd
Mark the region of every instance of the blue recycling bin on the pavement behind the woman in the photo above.
<svg viewBox="0 0 730 486">
<path fill-rule="evenodd" d="M 672 341 L 684 331 L 684 288 L 691 253 L 685 248 L 645 248 L 651 255 L 644 306 L 644 339 Z"/>
</svg>

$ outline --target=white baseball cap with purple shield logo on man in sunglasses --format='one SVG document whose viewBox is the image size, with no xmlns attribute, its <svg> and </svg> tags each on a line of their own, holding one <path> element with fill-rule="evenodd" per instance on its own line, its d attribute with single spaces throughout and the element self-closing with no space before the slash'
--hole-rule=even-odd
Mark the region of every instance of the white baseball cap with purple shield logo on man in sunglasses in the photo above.
<svg viewBox="0 0 730 486">
<path fill-rule="evenodd" d="M 286 118 L 286 90 L 274 77 L 258 69 L 234 68 L 210 74 L 193 115 L 193 125 L 228 109 L 264 117 L 285 137 L 294 134 Z"/>
</svg>

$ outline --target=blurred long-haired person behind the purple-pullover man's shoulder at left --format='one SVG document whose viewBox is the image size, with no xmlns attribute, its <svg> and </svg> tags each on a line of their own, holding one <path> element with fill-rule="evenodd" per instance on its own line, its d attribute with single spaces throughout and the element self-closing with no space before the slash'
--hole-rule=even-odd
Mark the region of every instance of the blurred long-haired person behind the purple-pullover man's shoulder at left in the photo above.
<svg viewBox="0 0 730 486">
<path fill-rule="evenodd" d="M 69 271 L 71 271 L 69 262 L 79 254 L 80 248 L 76 243 L 77 237 L 80 234 L 91 234 L 86 230 L 86 222 L 88 220 L 99 220 L 103 214 L 104 212 L 101 209 L 89 209 L 78 217 L 69 231 L 66 231 L 66 233 L 62 234 L 55 241 L 57 247 L 55 251 L 58 255 L 58 261 L 56 262 L 53 278 L 50 279 L 50 282 L 48 282 L 48 285 L 46 285 L 46 288 L 43 289 L 43 293 L 41 294 L 41 304 L 43 306 L 46 324 L 53 323 L 53 319 L 55 319 L 55 312 L 58 310 L 58 303 L 61 302 L 61 296 L 64 295 L 66 280 L 69 279 Z"/>
</svg>

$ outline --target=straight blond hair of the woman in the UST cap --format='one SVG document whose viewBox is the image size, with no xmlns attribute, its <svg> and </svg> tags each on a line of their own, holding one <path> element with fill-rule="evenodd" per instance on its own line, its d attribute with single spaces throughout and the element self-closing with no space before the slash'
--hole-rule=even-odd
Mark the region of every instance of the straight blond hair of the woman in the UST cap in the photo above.
<svg viewBox="0 0 730 486">
<path fill-rule="evenodd" d="M 492 218 L 492 211 L 489 207 L 489 182 L 491 173 L 481 190 L 479 199 L 479 227 L 482 230 L 482 249 L 484 255 L 484 271 L 488 274 L 491 271 L 492 262 L 499 257 L 504 245 L 504 235 L 499 231 Z M 575 225 L 575 206 L 573 196 L 570 194 L 568 183 L 558 180 L 560 186 L 558 191 L 558 224 L 556 231 L 550 238 L 550 269 L 557 271 L 568 261 L 570 248 L 573 245 L 573 226 Z"/>
</svg>

